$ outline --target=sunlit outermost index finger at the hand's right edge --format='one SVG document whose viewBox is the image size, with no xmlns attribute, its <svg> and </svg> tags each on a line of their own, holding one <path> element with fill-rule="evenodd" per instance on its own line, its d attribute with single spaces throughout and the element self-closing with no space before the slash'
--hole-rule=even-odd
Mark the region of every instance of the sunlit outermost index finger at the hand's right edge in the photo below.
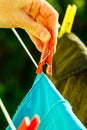
<svg viewBox="0 0 87 130">
<path fill-rule="evenodd" d="M 51 33 L 51 44 L 56 46 L 58 35 L 58 13 L 46 1 L 40 8 L 40 14 L 46 19 L 47 28 Z"/>
</svg>

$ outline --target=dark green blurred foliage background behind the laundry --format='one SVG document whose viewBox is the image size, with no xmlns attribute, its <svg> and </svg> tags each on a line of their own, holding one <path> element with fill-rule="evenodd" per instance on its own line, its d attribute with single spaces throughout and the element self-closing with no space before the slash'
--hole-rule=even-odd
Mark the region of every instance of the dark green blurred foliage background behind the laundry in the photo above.
<svg viewBox="0 0 87 130">
<path fill-rule="evenodd" d="M 68 4 L 77 5 L 77 14 L 72 32 L 87 45 L 87 1 L 86 0 L 47 0 L 59 13 L 62 23 Z M 40 53 L 25 31 L 17 29 L 29 51 L 38 62 Z M 35 79 L 35 66 L 10 29 L 0 29 L 0 97 L 12 117 L 23 97 Z M 4 130 L 7 121 L 0 109 L 0 129 Z"/>
</svg>

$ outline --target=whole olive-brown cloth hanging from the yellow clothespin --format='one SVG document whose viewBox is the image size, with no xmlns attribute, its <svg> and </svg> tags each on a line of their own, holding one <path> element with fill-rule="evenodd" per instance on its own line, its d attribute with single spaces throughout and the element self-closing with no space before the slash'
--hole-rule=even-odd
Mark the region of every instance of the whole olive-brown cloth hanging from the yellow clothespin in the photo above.
<svg viewBox="0 0 87 130">
<path fill-rule="evenodd" d="M 74 33 L 58 39 L 51 78 L 87 127 L 87 46 Z"/>
</svg>

